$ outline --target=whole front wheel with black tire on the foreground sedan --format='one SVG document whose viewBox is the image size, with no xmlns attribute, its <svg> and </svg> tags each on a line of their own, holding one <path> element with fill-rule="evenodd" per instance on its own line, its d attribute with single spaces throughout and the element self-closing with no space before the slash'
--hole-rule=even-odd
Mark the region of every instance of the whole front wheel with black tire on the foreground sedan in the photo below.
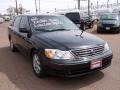
<svg viewBox="0 0 120 90">
<path fill-rule="evenodd" d="M 45 70 L 43 69 L 43 65 L 37 52 L 33 52 L 32 54 L 32 67 L 37 77 L 43 78 L 46 76 Z"/>
</svg>

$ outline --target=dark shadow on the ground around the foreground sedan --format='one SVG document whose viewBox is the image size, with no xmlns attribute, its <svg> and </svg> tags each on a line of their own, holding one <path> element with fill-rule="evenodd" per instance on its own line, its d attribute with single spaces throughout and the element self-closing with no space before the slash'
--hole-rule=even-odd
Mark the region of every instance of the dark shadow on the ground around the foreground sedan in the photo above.
<svg viewBox="0 0 120 90">
<path fill-rule="evenodd" d="M 40 79 L 32 71 L 31 60 L 19 52 L 12 53 L 9 47 L 0 48 L 0 74 L 3 75 L 4 82 L 9 82 L 9 88 L 13 90 L 16 88 L 20 90 L 78 90 L 104 77 L 104 74 L 99 71 L 76 78 L 47 76 Z M 2 75 L 0 75 L 1 78 Z"/>
</svg>

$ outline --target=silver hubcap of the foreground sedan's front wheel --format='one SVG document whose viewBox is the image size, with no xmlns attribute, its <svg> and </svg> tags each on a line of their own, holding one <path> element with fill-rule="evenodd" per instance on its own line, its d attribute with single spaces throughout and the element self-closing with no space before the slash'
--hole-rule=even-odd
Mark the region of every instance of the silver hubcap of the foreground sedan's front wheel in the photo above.
<svg viewBox="0 0 120 90">
<path fill-rule="evenodd" d="M 40 73 L 41 67 L 40 67 L 39 57 L 37 54 L 34 54 L 33 56 L 33 68 L 37 74 Z"/>
</svg>

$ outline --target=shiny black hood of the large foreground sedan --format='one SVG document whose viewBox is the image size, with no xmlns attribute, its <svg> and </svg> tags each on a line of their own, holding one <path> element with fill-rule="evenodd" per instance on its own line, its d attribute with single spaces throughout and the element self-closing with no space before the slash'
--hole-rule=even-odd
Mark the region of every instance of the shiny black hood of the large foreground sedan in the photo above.
<svg viewBox="0 0 120 90">
<path fill-rule="evenodd" d="M 39 40 L 44 41 L 49 48 L 55 48 L 60 50 L 65 49 L 78 49 L 81 46 L 88 45 L 97 45 L 103 44 L 104 40 L 91 35 L 89 33 L 84 32 L 82 36 L 80 36 L 81 31 L 55 31 L 55 32 L 45 32 L 45 33 L 37 33 L 36 37 Z"/>
</svg>

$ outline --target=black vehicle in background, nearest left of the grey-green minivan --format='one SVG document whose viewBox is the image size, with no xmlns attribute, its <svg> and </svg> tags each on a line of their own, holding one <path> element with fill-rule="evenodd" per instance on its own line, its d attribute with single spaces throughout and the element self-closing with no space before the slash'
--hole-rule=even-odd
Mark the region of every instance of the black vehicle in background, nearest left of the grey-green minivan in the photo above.
<svg viewBox="0 0 120 90">
<path fill-rule="evenodd" d="M 86 28 L 93 28 L 94 20 L 91 16 L 83 16 L 81 17 L 81 21 L 84 22 Z"/>
</svg>

